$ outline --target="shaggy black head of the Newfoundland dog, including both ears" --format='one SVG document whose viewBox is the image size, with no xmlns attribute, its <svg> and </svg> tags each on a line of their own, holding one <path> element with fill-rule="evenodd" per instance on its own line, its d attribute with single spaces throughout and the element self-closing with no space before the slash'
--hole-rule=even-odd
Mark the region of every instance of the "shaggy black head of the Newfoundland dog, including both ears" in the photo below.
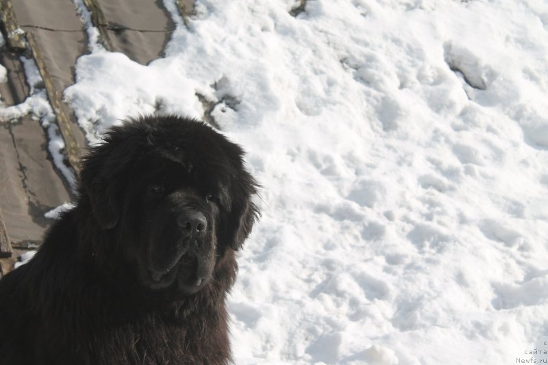
<svg viewBox="0 0 548 365">
<path fill-rule="evenodd" d="M 242 149 L 205 123 L 148 116 L 112 127 L 83 160 L 79 192 L 151 290 L 192 294 L 258 218 Z M 107 248 L 101 249 L 114 254 Z"/>
</svg>

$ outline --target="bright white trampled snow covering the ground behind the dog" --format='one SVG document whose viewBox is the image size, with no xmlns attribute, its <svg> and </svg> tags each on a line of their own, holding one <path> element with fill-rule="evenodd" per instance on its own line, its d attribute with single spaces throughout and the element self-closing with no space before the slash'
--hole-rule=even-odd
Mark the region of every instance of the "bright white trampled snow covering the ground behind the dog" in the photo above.
<svg viewBox="0 0 548 365">
<path fill-rule="evenodd" d="M 205 98 L 247 150 L 236 364 L 548 363 L 547 2 L 164 4 L 165 58 L 92 37 L 64 96 L 91 142 Z"/>
</svg>

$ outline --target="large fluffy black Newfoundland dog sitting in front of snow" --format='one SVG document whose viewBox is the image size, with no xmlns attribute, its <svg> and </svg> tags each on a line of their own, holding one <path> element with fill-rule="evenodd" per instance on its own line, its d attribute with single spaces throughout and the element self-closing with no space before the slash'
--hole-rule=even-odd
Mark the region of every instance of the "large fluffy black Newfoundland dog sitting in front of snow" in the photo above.
<svg viewBox="0 0 548 365">
<path fill-rule="evenodd" d="M 0 364 L 227 364 L 225 297 L 259 212 L 242 149 L 145 116 L 82 161 L 75 207 L 0 280 Z"/>
</svg>

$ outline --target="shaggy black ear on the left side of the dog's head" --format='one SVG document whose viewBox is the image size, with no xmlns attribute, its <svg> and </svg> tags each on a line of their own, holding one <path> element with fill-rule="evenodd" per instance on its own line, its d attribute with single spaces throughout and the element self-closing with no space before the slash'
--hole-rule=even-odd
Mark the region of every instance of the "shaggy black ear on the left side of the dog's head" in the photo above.
<svg viewBox="0 0 548 365">
<path fill-rule="evenodd" d="M 138 153 L 138 142 L 131 137 L 122 140 L 117 129 L 112 128 L 103 144 L 90 149 L 80 172 L 79 193 L 88 197 L 101 229 L 114 228 L 121 219 L 124 188 Z"/>
</svg>

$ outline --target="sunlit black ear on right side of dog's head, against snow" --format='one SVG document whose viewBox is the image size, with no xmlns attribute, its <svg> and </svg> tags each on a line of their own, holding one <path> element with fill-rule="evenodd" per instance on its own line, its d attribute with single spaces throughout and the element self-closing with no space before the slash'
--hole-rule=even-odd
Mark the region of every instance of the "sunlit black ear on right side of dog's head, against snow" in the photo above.
<svg viewBox="0 0 548 365">
<path fill-rule="evenodd" d="M 242 247 L 247 236 L 251 234 L 253 224 L 260 217 L 258 207 L 251 201 L 253 194 L 257 193 L 258 184 L 247 172 L 238 183 L 235 187 L 238 191 L 233 193 L 224 229 L 225 242 L 234 251 Z"/>
</svg>

